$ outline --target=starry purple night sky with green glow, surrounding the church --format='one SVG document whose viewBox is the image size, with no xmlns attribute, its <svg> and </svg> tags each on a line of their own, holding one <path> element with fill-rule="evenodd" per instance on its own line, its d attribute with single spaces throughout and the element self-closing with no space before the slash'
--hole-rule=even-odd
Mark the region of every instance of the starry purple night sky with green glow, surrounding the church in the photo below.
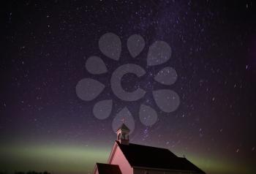
<svg viewBox="0 0 256 174">
<path fill-rule="evenodd" d="M 1 4 L 0 172 L 48 170 L 92 173 L 107 162 L 116 140 L 113 120 L 127 108 L 135 129 L 132 143 L 168 148 L 206 173 L 253 173 L 256 168 L 256 3 L 254 1 L 8 1 Z M 105 56 L 99 39 L 121 40 L 119 61 Z M 127 39 L 139 34 L 138 58 Z M 165 41 L 170 60 L 147 65 L 150 46 Z M 92 75 L 91 56 L 108 72 Z M 127 74 L 125 91 L 143 88 L 142 99 L 113 94 L 111 75 L 123 64 L 138 64 L 143 77 Z M 154 80 L 173 67 L 172 85 Z M 78 82 L 105 85 L 91 101 L 78 96 Z M 178 94 L 178 108 L 165 112 L 151 91 Z M 94 116 L 94 104 L 112 99 L 110 116 Z M 139 118 L 146 103 L 155 124 Z M 121 118 L 118 118 L 121 121 Z"/>
</svg>

